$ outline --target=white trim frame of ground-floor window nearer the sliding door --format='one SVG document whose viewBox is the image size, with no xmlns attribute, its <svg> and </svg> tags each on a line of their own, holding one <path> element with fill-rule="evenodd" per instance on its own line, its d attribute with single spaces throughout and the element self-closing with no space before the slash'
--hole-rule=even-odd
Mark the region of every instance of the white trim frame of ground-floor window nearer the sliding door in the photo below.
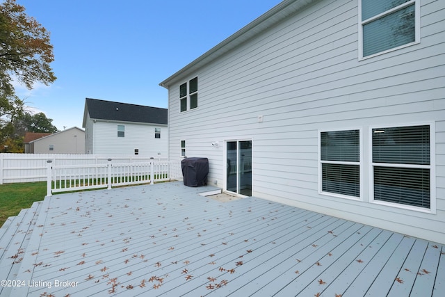
<svg viewBox="0 0 445 297">
<path fill-rule="evenodd" d="M 359 162 L 346 162 L 346 161 L 322 161 L 321 160 L 321 132 L 330 132 L 330 131 L 347 131 L 347 130 L 359 130 Z M 339 129 L 320 129 L 318 130 L 318 194 L 327 195 L 336 198 L 345 198 L 349 200 L 363 201 L 363 133 L 362 127 L 346 127 Z M 330 164 L 345 164 L 345 165 L 358 165 L 359 166 L 359 197 L 342 195 L 331 192 L 323 191 L 323 174 L 321 170 L 321 164 L 330 163 Z"/>
</svg>

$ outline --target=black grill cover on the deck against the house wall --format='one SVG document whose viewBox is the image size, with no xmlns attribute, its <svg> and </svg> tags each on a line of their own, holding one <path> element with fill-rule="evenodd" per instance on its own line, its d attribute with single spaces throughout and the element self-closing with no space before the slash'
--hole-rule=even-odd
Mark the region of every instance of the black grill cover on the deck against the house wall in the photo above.
<svg viewBox="0 0 445 297">
<path fill-rule="evenodd" d="M 181 161 L 182 177 L 186 186 L 207 185 L 207 175 L 209 175 L 209 159 L 207 158 L 186 158 Z"/>
</svg>

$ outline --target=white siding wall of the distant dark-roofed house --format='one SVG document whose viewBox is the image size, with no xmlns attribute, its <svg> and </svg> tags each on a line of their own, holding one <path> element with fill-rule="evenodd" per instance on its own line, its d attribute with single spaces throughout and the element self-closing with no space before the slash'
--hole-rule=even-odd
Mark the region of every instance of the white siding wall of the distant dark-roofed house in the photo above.
<svg viewBox="0 0 445 297">
<path fill-rule="evenodd" d="M 118 125 L 125 126 L 125 136 L 118 137 Z M 154 129 L 161 128 L 161 138 L 154 137 Z M 165 125 L 143 125 L 129 122 L 102 122 L 93 124 L 94 154 L 134 154 L 165 158 L 168 155 L 168 129 Z"/>
</svg>

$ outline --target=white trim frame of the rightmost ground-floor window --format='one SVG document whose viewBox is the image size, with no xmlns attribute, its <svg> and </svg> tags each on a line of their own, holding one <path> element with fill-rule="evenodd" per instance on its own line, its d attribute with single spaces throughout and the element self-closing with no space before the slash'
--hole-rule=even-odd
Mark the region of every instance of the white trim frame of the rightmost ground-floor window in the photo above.
<svg viewBox="0 0 445 297">
<path fill-rule="evenodd" d="M 375 128 L 392 128 L 392 127 L 412 127 L 412 126 L 430 126 L 430 165 L 411 165 L 411 164 L 397 164 L 397 163 L 373 163 L 373 129 Z M 386 205 L 390 207 L 396 207 L 399 209 L 407 209 L 412 211 L 419 211 L 427 214 L 436 214 L 436 151 L 435 151 L 435 122 L 416 122 L 416 123 L 402 123 L 391 125 L 373 125 L 369 126 L 369 202 L 373 204 Z M 414 207 L 406 204 L 398 204 L 394 202 L 387 202 L 381 200 L 374 200 L 374 166 L 387 166 L 398 168 L 429 168 L 430 169 L 430 209 L 424 207 Z"/>
</svg>

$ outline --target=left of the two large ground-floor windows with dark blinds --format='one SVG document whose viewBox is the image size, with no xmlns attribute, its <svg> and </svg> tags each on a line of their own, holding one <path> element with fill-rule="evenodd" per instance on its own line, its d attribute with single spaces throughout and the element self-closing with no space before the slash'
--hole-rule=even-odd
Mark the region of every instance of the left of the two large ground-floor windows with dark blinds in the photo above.
<svg viewBox="0 0 445 297">
<path fill-rule="evenodd" d="M 360 129 L 320 132 L 320 193 L 360 198 Z"/>
</svg>

